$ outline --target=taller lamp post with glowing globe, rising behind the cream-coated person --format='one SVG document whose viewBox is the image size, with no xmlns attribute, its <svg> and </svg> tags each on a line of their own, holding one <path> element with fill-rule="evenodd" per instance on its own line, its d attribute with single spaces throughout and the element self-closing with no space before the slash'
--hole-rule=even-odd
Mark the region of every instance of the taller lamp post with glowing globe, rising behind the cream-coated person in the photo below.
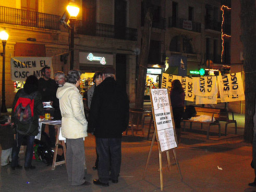
<svg viewBox="0 0 256 192">
<path fill-rule="evenodd" d="M 70 15 L 70 70 L 72 70 L 74 69 L 74 27 L 79 13 L 79 7 L 75 3 L 69 3 L 67 11 Z"/>
</svg>

